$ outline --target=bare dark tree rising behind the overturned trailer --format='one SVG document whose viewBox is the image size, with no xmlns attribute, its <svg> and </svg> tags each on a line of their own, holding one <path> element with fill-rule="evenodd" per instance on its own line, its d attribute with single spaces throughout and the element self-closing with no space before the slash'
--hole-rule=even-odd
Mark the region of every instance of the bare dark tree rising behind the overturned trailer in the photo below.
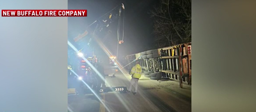
<svg viewBox="0 0 256 112">
<path fill-rule="evenodd" d="M 158 47 L 191 42 L 191 0 L 161 0 L 150 15 Z"/>
</svg>

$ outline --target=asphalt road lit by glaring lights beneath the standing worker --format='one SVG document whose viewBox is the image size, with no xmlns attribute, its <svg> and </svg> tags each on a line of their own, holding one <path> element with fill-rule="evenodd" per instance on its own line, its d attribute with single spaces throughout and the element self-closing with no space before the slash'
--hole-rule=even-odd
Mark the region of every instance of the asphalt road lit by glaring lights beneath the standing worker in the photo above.
<svg viewBox="0 0 256 112">
<path fill-rule="evenodd" d="M 130 76 L 106 77 L 106 86 L 129 86 Z M 142 77 L 137 94 L 108 92 L 100 100 L 93 94 L 69 96 L 74 112 L 191 112 L 191 87 L 179 89 L 174 81 L 157 82 Z"/>
</svg>

